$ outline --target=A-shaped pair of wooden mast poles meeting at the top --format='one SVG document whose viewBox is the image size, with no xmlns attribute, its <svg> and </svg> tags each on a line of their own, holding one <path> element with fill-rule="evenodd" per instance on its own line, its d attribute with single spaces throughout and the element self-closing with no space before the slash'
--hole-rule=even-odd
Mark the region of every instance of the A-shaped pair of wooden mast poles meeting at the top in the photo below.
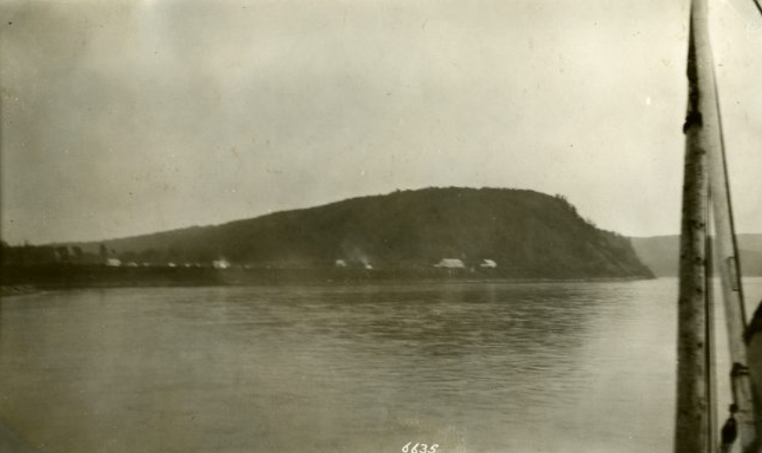
<svg viewBox="0 0 762 453">
<path fill-rule="evenodd" d="M 675 453 L 708 453 L 716 449 L 713 342 L 710 334 L 712 306 L 707 260 L 709 210 L 712 211 L 716 228 L 714 258 L 722 279 L 739 441 L 744 453 L 756 452 L 754 399 L 743 341 L 746 315 L 714 63 L 709 45 L 707 0 L 692 0 L 690 22 L 688 108 L 683 126 L 685 173 L 678 300 Z"/>
</svg>

